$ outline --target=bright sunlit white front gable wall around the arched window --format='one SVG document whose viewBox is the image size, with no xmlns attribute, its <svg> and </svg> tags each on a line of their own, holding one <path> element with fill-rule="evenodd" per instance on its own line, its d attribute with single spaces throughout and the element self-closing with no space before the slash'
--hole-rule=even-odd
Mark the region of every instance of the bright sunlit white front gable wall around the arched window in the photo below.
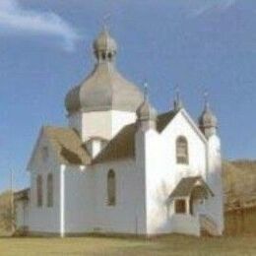
<svg viewBox="0 0 256 256">
<path fill-rule="evenodd" d="M 189 147 L 189 164 L 176 164 L 175 144 L 178 136 L 185 136 Z M 173 206 L 168 196 L 182 177 L 206 173 L 206 145 L 180 112 L 158 134 L 146 134 L 147 232 L 172 231 Z"/>
</svg>

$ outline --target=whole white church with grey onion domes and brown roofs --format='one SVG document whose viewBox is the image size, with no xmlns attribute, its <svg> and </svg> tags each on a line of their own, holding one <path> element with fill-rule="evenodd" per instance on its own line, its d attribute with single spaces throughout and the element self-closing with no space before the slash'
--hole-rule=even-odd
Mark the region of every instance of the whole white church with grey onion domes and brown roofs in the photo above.
<svg viewBox="0 0 256 256">
<path fill-rule="evenodd" d="M 195 122 L 179 96 L 158 113 L 117 71 L 106 29 L 93 72 L 65 99 L 68 126 L 43 126 L 15 194 L 29 235 L 200 236 L 224 232 L 221 141 L 208 102 Z"/>
</svg>

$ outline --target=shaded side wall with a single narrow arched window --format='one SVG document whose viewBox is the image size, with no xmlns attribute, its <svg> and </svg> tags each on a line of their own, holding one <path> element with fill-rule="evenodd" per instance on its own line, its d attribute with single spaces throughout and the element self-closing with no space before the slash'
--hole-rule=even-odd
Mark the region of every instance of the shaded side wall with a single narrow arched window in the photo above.
<svg viewBox="0 0 256 256">
<path fill-rule="evenodd" d="M 116 204 L 107 204 L 107 172 L 113 169 L 116 177 Z M 96 223 L 94 231 L 109 233 L 141 233 L 138 206 L 144 189 L 138 186 L 134 160 L 118 160 L 96 164 Z"/>
</svg>

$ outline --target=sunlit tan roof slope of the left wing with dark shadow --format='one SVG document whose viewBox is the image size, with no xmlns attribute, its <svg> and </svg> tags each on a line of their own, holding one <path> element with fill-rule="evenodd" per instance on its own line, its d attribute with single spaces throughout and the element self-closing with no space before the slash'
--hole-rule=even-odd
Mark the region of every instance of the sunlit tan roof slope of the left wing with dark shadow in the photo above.
<svg viewBox="0 0 256 256">
<path fill-rule="evenodd" d="M 43 127 L 58 160 L 64 164 L 90 164 L 91 157 L 79 134 L 71 128 Z"/>
</svg>

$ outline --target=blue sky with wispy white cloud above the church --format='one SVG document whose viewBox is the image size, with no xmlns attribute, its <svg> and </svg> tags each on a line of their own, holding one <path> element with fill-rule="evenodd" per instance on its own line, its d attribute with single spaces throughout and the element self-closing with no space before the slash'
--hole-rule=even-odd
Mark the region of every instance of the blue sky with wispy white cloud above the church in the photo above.
<svg viewBox="0 0 256 256">
<path fill-rule="evenodd" d="M 148 81 L 159 112 L 178 85 L 197 120 L 207 91 L 224 159 L 256 159 L 255 0 L 1 0 L 0 191 L 11 169 L 17 189 L 29 184 L 42 125 L 67 125 L 65 95 L 93 69 L 104 21 L 119 71 Z"/>
</svg>

